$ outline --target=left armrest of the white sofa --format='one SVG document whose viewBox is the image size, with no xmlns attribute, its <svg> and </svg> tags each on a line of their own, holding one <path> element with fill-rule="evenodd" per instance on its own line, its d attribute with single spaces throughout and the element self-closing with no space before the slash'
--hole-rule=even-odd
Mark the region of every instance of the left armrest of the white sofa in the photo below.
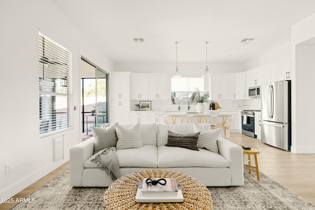
<svg viewBox="0 0 315 210">
<path fill-rule="evenodd" d="M 82 186 L 84 162 L 94 153 L 94 138 L 90 138 L 70 149 L 69 170 L 70 186 Z"/>
</svg>

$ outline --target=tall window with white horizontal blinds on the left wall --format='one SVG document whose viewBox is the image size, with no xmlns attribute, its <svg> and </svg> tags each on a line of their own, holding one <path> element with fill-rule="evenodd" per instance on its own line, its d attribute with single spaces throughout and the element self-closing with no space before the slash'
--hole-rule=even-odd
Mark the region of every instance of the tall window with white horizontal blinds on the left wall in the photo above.
<svg viewBox="0 0 315 210">
<path fill-rule="evenodd" d="M 70 52 L 38 33 L 39 133 L 70 127 Z"/>
</svg>

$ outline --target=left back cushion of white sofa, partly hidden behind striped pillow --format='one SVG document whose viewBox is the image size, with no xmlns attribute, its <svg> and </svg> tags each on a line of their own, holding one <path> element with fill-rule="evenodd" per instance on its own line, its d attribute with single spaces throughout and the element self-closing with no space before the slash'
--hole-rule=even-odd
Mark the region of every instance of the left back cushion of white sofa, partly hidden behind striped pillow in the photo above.
<svg viewBox="0 0 315 210">
<path fill-rule="evenodd" d="M 122 124 L 122 126 L 130 128 L 134 124 Z M 157 146 L 157 123 L 140 124 L 140 130 L 143 145 Z"/>
</svg>

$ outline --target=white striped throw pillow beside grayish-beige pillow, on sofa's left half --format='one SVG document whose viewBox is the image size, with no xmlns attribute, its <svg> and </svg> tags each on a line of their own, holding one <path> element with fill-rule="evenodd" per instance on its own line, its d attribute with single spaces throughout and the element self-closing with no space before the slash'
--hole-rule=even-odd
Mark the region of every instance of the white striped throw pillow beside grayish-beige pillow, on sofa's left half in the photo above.
<svg viewBox="0 0 315 210">
<path fill-rule="evenodd" d="M 139 122 L 130 128 L 123 127 L 120 124 L 116 124 L 115 128 L 118 137 L 116 145 L 118 150 L 143 147 Z"/>
</svg>

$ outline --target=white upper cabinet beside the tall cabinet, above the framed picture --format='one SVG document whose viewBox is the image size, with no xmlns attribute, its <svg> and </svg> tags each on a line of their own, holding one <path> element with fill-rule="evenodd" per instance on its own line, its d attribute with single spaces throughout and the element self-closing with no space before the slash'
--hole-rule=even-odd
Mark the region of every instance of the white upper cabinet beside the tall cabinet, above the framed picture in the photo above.
<svg viewBox="0 0 315 210">
<path fill-rule="evenodd" d="M 132 100 L 149 98 L 149 76 L 143 74 L 131 75 L 130 97 Z"/>
</svg>

